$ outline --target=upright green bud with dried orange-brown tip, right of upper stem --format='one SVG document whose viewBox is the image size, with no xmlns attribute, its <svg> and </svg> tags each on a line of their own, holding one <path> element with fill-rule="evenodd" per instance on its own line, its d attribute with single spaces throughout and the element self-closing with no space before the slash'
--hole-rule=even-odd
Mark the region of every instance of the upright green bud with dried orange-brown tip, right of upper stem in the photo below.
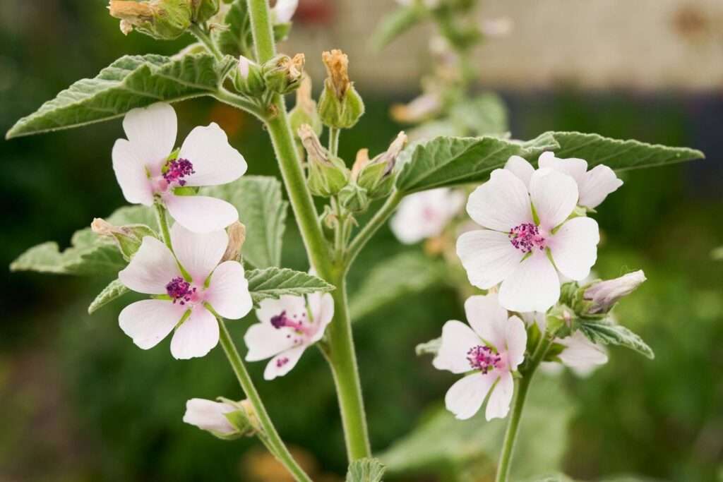
<svg viewBox="0 0 723 482">
<path fill-rule="evenodd" d="M 348 129 L 364 114 L 364 101 L 349 80 L 349 60 L 341 50 L 324 52 L 322 60 L 328 77 L 319 98 L 322 122 L 336 129 Z"/>
</svg>

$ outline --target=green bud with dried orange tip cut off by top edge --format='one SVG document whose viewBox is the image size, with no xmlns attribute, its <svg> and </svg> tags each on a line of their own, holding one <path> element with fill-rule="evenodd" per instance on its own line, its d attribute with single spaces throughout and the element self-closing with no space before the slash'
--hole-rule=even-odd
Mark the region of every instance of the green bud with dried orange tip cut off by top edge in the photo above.
<svg viewBox="0 0 723 482">
<path fill-rule="evenodd" d="M 112 17 L 121 20 L 125 35 L 135 29 L 158 40 L 178 38 L 193 20 L 189 0 L 111 0 L 108 9 Z"/>
</svg>

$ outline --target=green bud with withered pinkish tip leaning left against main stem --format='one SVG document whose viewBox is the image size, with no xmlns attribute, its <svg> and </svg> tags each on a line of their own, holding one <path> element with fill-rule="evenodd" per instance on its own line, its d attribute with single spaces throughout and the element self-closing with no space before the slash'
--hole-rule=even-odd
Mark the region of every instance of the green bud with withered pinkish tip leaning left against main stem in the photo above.
<svg viewBox="0 0 723 482">
<path fill-rule="evenodd" d="M 307 151 L 309 163 L 309 190 L 315 196 L 330 197 L 338 194 L 348 184 L 349 171 L 341 159 L 322 147 L 319 138 L 309 126 L 304 124 L 299 128 L 301 144 Z"/>
</svg>

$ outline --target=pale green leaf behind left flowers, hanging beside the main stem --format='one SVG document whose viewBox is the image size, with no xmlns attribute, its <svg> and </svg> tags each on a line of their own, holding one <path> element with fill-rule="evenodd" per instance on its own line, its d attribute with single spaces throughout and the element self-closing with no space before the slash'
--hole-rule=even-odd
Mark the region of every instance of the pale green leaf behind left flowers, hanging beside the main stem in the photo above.
<svg viewBox="0 0 723 482">
<path fill-rule="evenodd" d="M 236 206 L 246 225 L 244 260 L 257 268 L 281 265 L 281 238 L 288 203 L 281 200 L 281 182 L 270 176 L 243 176 L 223 186 L 201 189 L 200 194 L 225 199 Z"/>
</svg>

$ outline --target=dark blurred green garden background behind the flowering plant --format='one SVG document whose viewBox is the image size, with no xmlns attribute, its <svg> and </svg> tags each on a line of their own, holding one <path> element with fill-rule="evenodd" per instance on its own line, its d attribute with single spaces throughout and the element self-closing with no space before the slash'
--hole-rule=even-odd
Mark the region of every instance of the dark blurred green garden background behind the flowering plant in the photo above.
<svg viewBox="0 0 723 482">
<path fill-rule="evenodd" d="M 124 53 L 174 53 L 188 41 L 124 38 L 104 5 L 100 0 L 0 3 L 1 132 Z M 415 95 L 359 87 L 367 114 L 353 134 L 343 135 L 346 159 L 361 147 L 372 153 L 384 149 L 401 129 L 389 120 L 388 106 Z M 697 163 L 626 173 L 623 189 L 596 215 L 604 233 L 599 275 L 641 268 L 649 278 L 617 314 L 654 348 L 656 360 L 613 349 L 611 361 L 589 379 L 539 376 L 541 387 L 552 386 L 562 395 L 539 390 L 531 408 L 539 413 L 525 444 L 559 445 L 559 469 L 585 480 L 620 474 L 661 481 L 720 480 L 723 262 L 712 261 L 710 253 L 723 244 L 723 98 L 719 93 L 590 94 L 569 86 L 502 95 L 518 138 L 579 130 L 686 145 L 708 155 Z M 249 173 L 277 174 L 268 138 L 253 119 L 210 100 L 176 108 L 179 137 L 192 126 L 216 121 L 247 159 Z M 120 121 L 113 121 L 0 141 L 1 266 L 43 241 L 67 244 L 73 231 L 124 204 L 110 158 L 111 145 L 121 136 Z M 421 248 L 403 247 L 383 230 L 352 272 L 351 291 L 375 264 L 401 251 Z M 284 264 L 307 268 L 293 223 L 287 228 Z M 2 270 L 0 481 L 286 480 L 258 444 L 221 442 L 181 422 L 190 397 L 241 397 L 223 353 L 213 350 L 205 358 L 175 361 L 167 340 L 153 350 L 138 350 L 116 319 L 128 298 L 87 315 L 87 305 L 108 281 Z M 461 316 L 455 290 L 440 284 L 355 324 L 372 444 L 378 452 L 420 421 L 434 418 L 453 377 L 432 369 L 429 359 L 416 358 L 414 346 L 436 337 L 447 319 Z M 251 321 L 232 327 L 239 343 Z M 252 371 L 283 438 L 304 447 L 297 453 L 319 480 L 341 480 L 346 465 L 341 425 L 320 353 L 310 350 L 290 376 L 274 382 L 262 382 L 262 365 L 254 363 Z M 537 421 L 547 415 L 549 423 Z M 531 418 L 523 424 L 526 420 Z M 490 428 L 485 434 L 484 420 L 475 423 L 479 429 L 468 435 L 471 441 L 493 433 Z M 425 427 L 435 429 L 429 423 Z M 458 426 L 445 421 L 441 429 L 449 433 Z M 432 439 L 427 445 L 434 449 L 436 444 Z M 539 461 L 531 457 L 516 460 L 521 474 L 531 475 L 525 469 L 537 467 Z M 463 458 L 441 457 L 439 467 L 421 464 L 399 470 L 394 478 L 489 480 L 489 470 L 476 470 L 485 457 Z M 452 466 L 442 466 L 446 462 Z M 543 460 L 539 466 L 555 468 L 550 463 Z"/>
</svg>

